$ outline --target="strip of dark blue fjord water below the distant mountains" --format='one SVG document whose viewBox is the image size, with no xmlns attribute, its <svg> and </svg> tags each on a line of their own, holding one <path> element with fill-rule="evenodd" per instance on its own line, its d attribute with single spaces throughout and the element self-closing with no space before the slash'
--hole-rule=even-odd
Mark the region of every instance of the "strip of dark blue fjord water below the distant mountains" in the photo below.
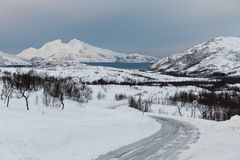
<svg viewBox="0 0 240 160">
<path fill-rule="evenodd" d="M 119 63 L 119 62 L 87 62 L 85 63 L 90 66 L 104 66 L 120 69 L 139 69 L 146 70 L 152 63 Z"/>
</svg>

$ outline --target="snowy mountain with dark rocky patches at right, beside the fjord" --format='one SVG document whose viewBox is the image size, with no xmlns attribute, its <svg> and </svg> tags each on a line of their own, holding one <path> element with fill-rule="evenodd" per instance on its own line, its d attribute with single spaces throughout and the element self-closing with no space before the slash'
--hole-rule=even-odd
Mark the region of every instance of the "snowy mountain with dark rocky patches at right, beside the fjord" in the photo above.
<svg viewBox="0 0 240 160">
<path fill-rule="evenodd" d="M 189 76 L 240 75 L 240 37 L 217 37 L 163 58 L 152 71 Z"/>
</svg>

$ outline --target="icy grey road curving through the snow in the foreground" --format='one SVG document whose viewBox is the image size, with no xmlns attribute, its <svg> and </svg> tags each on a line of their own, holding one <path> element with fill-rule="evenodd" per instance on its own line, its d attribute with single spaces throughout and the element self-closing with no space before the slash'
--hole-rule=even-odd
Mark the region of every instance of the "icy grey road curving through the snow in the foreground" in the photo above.
<svg viewBox="0 0 240 160">
<path fill-rule="evenodd" d="M 157 133 L 124 146 L 96 160 L 176 160 L 178 154 L 197 142 L 199 130 L 181 121 L 153 117 L 162 127 Z"/>
</svg>

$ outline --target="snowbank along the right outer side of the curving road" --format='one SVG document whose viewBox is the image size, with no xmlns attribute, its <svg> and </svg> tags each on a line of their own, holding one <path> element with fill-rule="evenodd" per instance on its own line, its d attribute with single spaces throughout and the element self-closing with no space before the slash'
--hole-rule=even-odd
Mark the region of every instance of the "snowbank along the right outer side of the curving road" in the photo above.
<svg viewBox="0 0 240 160">
<path fill-rule="evenodd" d="M 181 151 L 179 160 L 239 160 L 240 116 L 224 122 L 170 115 L 163 116 L 190 123 L 200 130 L 199 140 Z"/>
</svg>

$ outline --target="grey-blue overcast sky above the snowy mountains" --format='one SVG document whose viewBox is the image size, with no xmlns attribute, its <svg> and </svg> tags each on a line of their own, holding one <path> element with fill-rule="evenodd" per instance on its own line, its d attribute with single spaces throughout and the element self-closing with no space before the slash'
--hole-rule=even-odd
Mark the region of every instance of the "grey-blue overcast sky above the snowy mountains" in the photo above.
<svg viewBox="0 0 240 160">
<path fill-rule="evenodd" d="M 239 0 L 1 0 L 0 50 L 80 39 L 164 57 L 216 36 L 240 36 Z"/>
</svg>

